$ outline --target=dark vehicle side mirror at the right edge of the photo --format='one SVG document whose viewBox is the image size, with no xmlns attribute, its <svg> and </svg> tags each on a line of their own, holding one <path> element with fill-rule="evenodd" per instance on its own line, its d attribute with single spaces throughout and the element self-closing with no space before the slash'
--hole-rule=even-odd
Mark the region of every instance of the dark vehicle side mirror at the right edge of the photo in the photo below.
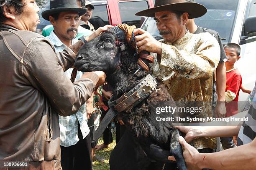
<svg viewBox="0 0 256 170">
<path fill-rule="evenodd" d="M 252 37 L 256 36 L 256 16 L 246 18 L 244 23 L 244 34 L 245 36 Z"/>
</svg>

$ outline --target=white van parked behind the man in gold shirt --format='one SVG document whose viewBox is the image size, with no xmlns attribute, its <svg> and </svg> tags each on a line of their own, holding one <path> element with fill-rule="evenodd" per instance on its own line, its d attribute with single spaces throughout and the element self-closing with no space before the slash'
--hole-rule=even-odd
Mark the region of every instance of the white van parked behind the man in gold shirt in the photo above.
<svg viewBox="0 0 256 170">
<path fill-rule="evenodd" d="M 241 72 L 243 85 L 253 89 L 256 80 L 256 0 L 195 0 L 205 5 L 207 13 L 195 19 L 203 28 L 219 32 L 223 45 L 234 42 L 241 46 L 241 59 L 236 67 Z M 156 39 L 162 39 L 153 18 L 146 18 L 143 30 Z M 246 101 L 247 93 L 240 90 L 239 100 Z M 243 108 L 239 105 L 239 110 Z"/>
</svg>

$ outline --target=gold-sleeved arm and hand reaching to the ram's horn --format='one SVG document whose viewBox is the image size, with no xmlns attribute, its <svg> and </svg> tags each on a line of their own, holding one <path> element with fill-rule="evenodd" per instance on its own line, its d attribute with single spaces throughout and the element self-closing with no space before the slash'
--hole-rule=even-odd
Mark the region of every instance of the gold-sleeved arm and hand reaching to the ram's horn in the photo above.
<svg viewBox="0 0 256 170">
<path fill-rule="evenodd" d="M 195 54 L 161 43 L 141 29 L 136 29 L 134 34 L 142 34 L 135 38 L 139 52 L 146 50 L 157 53 L 161 56 L 162 66 L 188 79 L 210 78 L 220 60 L 220 46 L 210 34 L 198 42 Z"/>
</svg>

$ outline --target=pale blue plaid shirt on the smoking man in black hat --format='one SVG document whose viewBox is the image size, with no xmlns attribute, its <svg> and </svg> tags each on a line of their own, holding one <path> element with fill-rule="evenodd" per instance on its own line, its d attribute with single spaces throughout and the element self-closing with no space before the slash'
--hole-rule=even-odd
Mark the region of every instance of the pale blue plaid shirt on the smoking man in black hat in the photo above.
<svg viewBox="0 0 256 170">
<path fill-rule="evenodd" d="M 87 35 L 85 35 L 87 36 Z M 49 36 L 46 37 L 54 45 L 56 52 L 64 50 L 67 46 L 64 45 L 59 38 L 55 35 L 54 31 L 51 32 Z M 77 40 L 72 40 L 72 44 Z M 68 79 L 71 77 L 72 68 L 69 68 L 65 75 Z M 76 80 L 82 76 L 83 72 L 77 72 Z M 61 88 L 61 87 L 60 87 Z M 78 122 L 80 124 L 80 129 L 85 138 L 89 133 L 90 129 L 87 125 L 87 113 L 85 104 L 82 105 L 77 113 L 71 116 L 63 117 L 59 115 L 59 128 L 60 128 L 60 140 L 61 146 L 69 147 L 75 145 L 78 141 Z"/>
</svg>

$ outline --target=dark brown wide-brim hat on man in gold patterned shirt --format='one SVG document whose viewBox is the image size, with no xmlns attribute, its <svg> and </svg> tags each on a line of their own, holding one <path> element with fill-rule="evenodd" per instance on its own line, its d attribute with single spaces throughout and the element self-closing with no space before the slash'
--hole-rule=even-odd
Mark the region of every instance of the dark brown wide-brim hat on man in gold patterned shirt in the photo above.
<svg viewBox="0 0 256 170">
<path fill-rule="evenodd" d="M 186 2 L 185 0 L 156 0 L 155 7 L 140 11 L 135 15 L 155 17 L 155 13 L 166 10 L 188 13 L 188 19 L 201 17 L 207 12 L 204 5 L 195 2 Z"/>
</svg>

